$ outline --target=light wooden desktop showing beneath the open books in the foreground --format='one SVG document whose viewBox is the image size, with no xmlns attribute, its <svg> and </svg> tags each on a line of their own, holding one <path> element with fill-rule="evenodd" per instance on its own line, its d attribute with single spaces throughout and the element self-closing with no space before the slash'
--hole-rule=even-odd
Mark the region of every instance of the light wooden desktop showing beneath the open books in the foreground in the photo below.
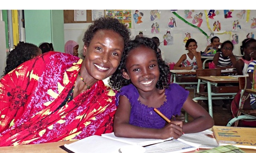
<svg viewBox="0 0 256 153">
<path fill-rule="evenodd" d="M 75 140 L 75 141 L 77 141 L 77 140 Z M 75 142 L 75 141 L 61 141 L 61 142 L 51 142 L 51 143 L 35 144 L 35 145 L 0 147 L 0 152 L 4 152 L 4 153 L 12 153 L 12 152 L 13 153 L 17 153 L 17 152 L 19 152 L 19 153 L 35 153 L 35 152 L 67 153 L 65 150 L 61 149 L 60 146 L 62 146 L 64 144 L 71 144 L 72 142 Z M 90 147 L 90 146 L 86 146 L 86 147 Z M 202 149 L 202 150 L 206 150 L 206 149 Z M 252 149 L 243 149 L 242 148 L 242 150 L 245 152 L 248 152 L 248 153 L 255 152 L 255 150 L 252 150 Z M 191 151 L 191 152 L 198 152 L 198 151 Z"/>
</svg>

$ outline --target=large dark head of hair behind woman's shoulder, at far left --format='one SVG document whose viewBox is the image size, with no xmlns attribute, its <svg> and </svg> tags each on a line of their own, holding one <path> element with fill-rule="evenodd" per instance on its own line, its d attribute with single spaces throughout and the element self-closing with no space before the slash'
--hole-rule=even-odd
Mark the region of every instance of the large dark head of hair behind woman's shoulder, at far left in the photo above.
<svg viewBox="0 0 256 153">
<path fill-rule="evenodd" d="M 19 42 L 17 46 L 8 54 L 6 59 L 6 68 L 4 75 L 11 72 L 18 65 L 29 59 L 35 58 L 42 54 L 42 50 L 35 44 Z"/>
</svg>

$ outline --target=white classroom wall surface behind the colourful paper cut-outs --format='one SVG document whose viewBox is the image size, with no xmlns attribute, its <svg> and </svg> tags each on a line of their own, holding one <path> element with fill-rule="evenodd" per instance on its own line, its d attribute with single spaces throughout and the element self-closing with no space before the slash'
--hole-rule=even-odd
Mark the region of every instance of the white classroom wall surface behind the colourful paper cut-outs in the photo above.
<svg viewBox="0 0 256 153">
<path fill-rule="evenodd" d="M 240 54 L 240 45 L 242 41 L 247 38 L 247 34 L 252 32 L 256 34 L 256 28 L 251 28 L 253 23 L 253 19 L 256 18 L 256 11 L 252 10 L 245 14 L 244 18 L 239 18 L 238 14 L 242 10 L 232 10 L 232 18 L 225 18 L 224 17 L 224 10 L 215 10 L 215 16 L 213 19 L 208 17 L 208 11 L 206 10 L 188 10 L 192 12 L 192 18 L 185 18 L 185 10 L 178 10 L 175 11 L 176 14 L 179 15 L 175 16 L 174 13 L 170 10 L 157 10 L 160 12 L 161 17 L 159 19 L 155 19 L 154 21 L 150 21 L 150 10 L 139 10 L 139 12 L 144 12 L 144 16 L 142 17 L 142 23 L 135 24 L 134 19 L 132 18 L 132 27 L 131 27 L 131 38 L 135 38 L 140 31 L 144 33 L 144 37 L 158 37 L 160 39 L 160 46 L 159 48 L 162 51 L 163 59 L 166 63 L 169 62 L 177 62 L 182 54 L 187 53 L 188 51 L 185 50 L 185 43 L 183 42 L 185 38 L 185 33 L 190 33 L 191 38 L 195 39 L 198 42 L 198 49 L 197 51 L 204 51 L 207 42 L 207 36 L 210 36 L 210 33 L 213 32 L 213 22 L 220 21 L 221 22 L 221 30 L 219 32 L 213 32 L 215 36 L 220 38 L 220 42 L 224 42 L 225 40 L 232 40 L 233 34 L 239 35 L 239 43 L 234 44 L 233 53 L 235 55 Z M 134 14 L 135 10 L 132 10 L 131 13 Z M 203 23 L 201 24 L 200 29 L 195 28 L 197 24 L 192 24 L 193 17 L 195 14 L 199 14 L 200 12 L 203 13 L 202 19 Z M 133 16 L 133 15 L 132 15 Z M 168 23 L 170 22 L 171 17 L 176 19 L 177 27 L 169 28 Z M 232 24 L 234 20 L 239 20 L 242 29 L 238 29 L 236 31 L 232 30 Z M 151 25 L 152 23 L 157 22 L 160 24 L 160 32 L 159 33 L 151 33 Z M 91 23 L 65 23 L 64 24 L 64 35 L 65 35 L 65 42 L 67 40 L 75 40 L 79 45 L 79 50 L 82 50 L 83 42 L 82 37 L 83 34 Z M 193 27 L 194 25 L 194 27 Z M 171 45 L 164 45 L 163 35 L 166 34 L 166 31 L 170 30 L 171 36 L 173 37 L 173 44 Z M 205 35 L 205 34 L 206 35 Z M 255 38 L 254 38 L 255 39 Z"/>
</svg>

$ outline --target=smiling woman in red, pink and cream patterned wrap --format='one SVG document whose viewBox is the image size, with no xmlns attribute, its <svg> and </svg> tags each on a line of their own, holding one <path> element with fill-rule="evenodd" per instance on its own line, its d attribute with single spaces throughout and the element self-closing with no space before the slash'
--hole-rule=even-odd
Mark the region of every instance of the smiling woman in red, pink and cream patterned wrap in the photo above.
<svg viewBox="0 0 256 153">
<path fill-rule="evenodd" d="M 0 80 L 0 146 L 39 144 L 112 132 L 115 91 L 102 79 L 117 69 L 130 32 L 97 19 L 83 37 L 82 60 L 48 52 Z"/>
</svg>

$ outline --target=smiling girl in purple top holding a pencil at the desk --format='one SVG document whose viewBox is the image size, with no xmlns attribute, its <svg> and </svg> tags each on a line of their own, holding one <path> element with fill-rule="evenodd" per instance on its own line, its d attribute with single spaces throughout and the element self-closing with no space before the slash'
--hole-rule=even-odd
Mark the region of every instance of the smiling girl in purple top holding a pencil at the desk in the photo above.
<svg viewBox="0 0 256 153">
<path fill-rule="evenodd" d="M 154 40 L 136 38 L 127 44 L 124 58 L 110 78 L 111 87 L 119 90 L 114 118 L 116 136 L 178 139 L 183 132 L 199 132 L 214 125 L 208 112 L 189 97 L 189 91 L 178 84 L 169 84 L 169 73 Z M 154 108 L 169 119 L 183 108 L 194 120 L 186 124 L 167 123 Z"/>
</svg>

